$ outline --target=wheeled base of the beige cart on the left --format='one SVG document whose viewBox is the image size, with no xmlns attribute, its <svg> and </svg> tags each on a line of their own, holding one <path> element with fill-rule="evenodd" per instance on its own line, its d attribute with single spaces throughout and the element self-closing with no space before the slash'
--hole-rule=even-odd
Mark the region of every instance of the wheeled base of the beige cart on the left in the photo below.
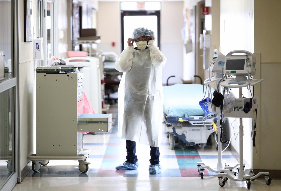
<svg viewBox="0 0 281 191">
<path fill-rule="evenodd" d="M 79 162 L 78 168 L 81 173 L 86 173 L 89 169 L 88 165 L 91 164 L 90 162 L 85 161 L 85 154 L 79 154 L 79 156 L 36 156 L 36 154 L 31 154 L 28 156 L 28 159 L 32 161 L 31 168 L 34 172 L 38 172 L 41 165 L 47 165 L 50 160 L 77 160 Z"/>
</svg>

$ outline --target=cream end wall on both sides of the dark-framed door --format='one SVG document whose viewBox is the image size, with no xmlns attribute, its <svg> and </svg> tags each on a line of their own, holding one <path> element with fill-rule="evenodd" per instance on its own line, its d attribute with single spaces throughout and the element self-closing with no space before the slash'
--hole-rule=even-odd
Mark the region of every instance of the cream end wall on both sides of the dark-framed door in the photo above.
<svg viewBox="0 0 281 191">
<path fill-rule="evenodd" d="M 110 13 L 110 14 L 109 14 Z M 161 51 L 167 57 L 163 68 L 163 83 L 171 75 L 176 78 L 170 84 L 181 83 L 183 78 L 183 1 L 161 2 Z M 103 51 L 121 53 L 121 12 L 120 2 L 99 1 L 97 12 L 97 34 L 101 36 L 98 48 Z M 115 42 L 115 47 L 111 43 Z"/>
</svg>

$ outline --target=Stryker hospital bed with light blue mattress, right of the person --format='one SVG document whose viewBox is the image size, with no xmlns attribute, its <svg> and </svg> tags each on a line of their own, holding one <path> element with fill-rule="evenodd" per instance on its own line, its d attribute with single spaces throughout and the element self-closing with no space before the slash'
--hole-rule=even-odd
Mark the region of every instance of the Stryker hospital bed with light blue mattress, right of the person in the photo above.
<svg viewBox="0 0 281 191">
<path fill-rule="evenodd" d="M 175 138 L 187 145 L 207 143 L 214 132 L 207 132 L 205 126 L 215 126 L 212 119 L 202 119 L 204 111 L 198 104 L 206 86 L 201 84 L 175 84 L 163 87 L 164 119 L 171 149 Z"/>
</svg>

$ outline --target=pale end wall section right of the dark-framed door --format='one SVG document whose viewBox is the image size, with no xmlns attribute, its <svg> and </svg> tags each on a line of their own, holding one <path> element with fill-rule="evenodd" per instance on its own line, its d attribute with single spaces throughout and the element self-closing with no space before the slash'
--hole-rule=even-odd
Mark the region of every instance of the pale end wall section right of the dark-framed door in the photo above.
<svg viewBox="0 0 281 191">
<path fill-rule="evenodd" d="M 161 51 L 167 57 L 163 68 L 162 81 L 166 84 L 182 83 L 183 79 L 183 1 L 164 1 L 161 3 Z"/>
</svg>

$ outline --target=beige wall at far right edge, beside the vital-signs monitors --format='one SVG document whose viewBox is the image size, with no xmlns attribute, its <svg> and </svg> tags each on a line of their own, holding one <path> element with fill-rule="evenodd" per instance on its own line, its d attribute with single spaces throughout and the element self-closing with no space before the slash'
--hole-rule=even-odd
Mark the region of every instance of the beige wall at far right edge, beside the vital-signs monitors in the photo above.
<svg viewBox="0 0 281 191">
<path fill-rule="evenodd" d="M 260 53 L 260 123 L 258 123 L 258 156 L 254 168 L 280 170 L 280 107 L 279 75 L 281 71 L 281 1 L 255 0 L 254 51 Z M 256 94 L 256 93 L 255 93 Z"/>
</svg>

